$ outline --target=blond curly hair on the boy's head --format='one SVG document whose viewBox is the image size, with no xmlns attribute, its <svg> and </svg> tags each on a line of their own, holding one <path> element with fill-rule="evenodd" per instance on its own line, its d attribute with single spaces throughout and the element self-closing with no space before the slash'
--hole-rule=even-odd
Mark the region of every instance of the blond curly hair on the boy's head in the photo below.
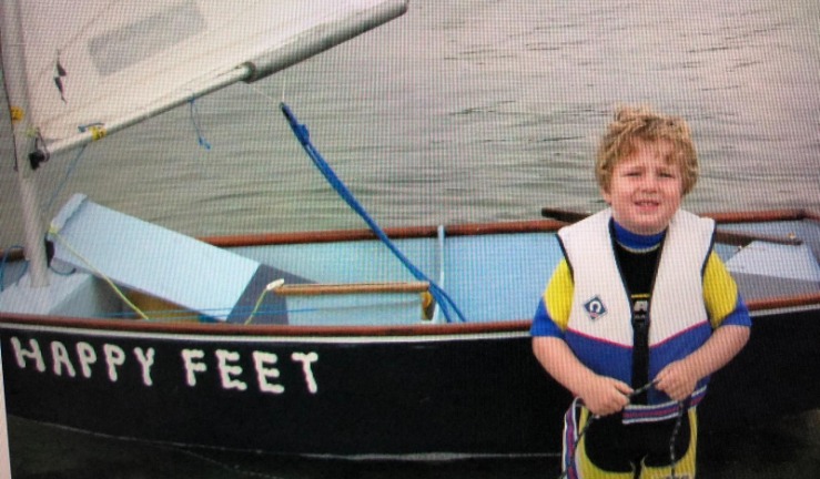
<svg viewBox="0 0 820 479">
<path fill-rule="evenodd" d="M 595 179 L 603 191 L 609 192 L 615 165 L 631 155 L 638 142 L 668 142 L 671 149 L 666 161 L 680 165 L 684 195 L 692 191 L 699 166 L 689 125 L 681 118 L 657 114 L 645 106 L 619 106 L 607 126 L 595 162 Z"/>
</svg>

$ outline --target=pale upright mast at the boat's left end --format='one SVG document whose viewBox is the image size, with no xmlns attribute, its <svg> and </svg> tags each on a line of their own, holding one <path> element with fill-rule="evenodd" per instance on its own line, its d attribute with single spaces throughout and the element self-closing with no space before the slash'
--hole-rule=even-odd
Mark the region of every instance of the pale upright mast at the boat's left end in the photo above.
<svg viewBox="0 0 820 479">
<path fill-rule="evenodd" d="M 48 286 L 48 263 L 45 257 L 45 225 L 40 214 L 37 179 L 29 162 L 29 153 L 34 150 L 34 139 L 28 134 L 29 88 L 26 71 L 26 44 L 22 35 L 22 13 L 14 1 L 0 4 L 2 12 L 2 62 L 9 106 L 12 109 L 14 131 L 14 157 L 20 186 L 20 206 L 26 231 L 26 257 L 29 259 L 31 287 Z"/>
</svg>

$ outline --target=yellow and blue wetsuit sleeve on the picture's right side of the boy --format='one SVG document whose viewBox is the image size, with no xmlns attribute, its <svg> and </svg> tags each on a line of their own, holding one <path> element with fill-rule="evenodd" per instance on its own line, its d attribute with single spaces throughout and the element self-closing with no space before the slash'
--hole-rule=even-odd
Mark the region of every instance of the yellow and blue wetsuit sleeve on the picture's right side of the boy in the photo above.
<svg viewBox="0 0 820 479">
<path fill-rule="evenodd" d="M 751 326 L 749 309 L 738 285 L 720 257 L 712 252 L 703 271 L 703 300 L 712 328 L 723 325 Z"/>
</svg>

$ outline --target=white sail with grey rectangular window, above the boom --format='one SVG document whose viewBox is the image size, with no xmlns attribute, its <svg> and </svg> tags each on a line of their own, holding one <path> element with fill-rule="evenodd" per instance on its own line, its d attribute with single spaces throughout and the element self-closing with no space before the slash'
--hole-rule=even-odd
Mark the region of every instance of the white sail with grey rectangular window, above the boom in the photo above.
<svg viewBox="0 0 820 479">
<path fill-rule="evenodd" d="M 3 3 L 3 22 L 19 21 L 23 35 L 22 47 L 3 45 L 3 62 L 24 57 L 27 119 L 52 153 L 264 78 L 407 8 L 406 0 Z"/>
</svg>

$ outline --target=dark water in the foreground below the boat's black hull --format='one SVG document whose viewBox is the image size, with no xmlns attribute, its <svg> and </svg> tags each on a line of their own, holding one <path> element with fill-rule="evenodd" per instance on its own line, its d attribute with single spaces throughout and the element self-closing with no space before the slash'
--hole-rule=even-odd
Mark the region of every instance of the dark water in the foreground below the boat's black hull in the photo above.
<svg viewBox="0 0 820 479">
<path fill-rule="evenodd" d="M 14 479 L 549 479 L 558 459 L 486 459 L 432 462 L 343 461 L 191 451 L 171 446 L 94 437 L 11 418 Z M 780 479 L 820 477 L 820 411 L 755 428 L 705 434 L 699 477 Z"/>
</svg>

